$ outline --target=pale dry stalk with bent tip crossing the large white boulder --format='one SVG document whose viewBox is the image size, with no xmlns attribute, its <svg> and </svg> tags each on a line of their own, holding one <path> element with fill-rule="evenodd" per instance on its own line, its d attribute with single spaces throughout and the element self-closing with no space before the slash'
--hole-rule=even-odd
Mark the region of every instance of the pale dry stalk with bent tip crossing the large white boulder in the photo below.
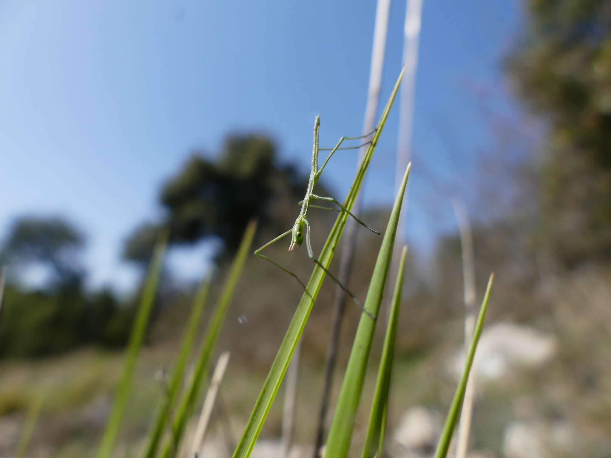
<svg viewBox="0 0 611 458">
<path fill-rule="evenodd" d="M 464 347 L 469 351 L 469 343 L 475 327 L 477 310 L 475 308 L 475 263 L 473 254 L 473 234 L 469 224 L 469 216 L 462 199 L 452 199 L 454 213 L 458 220 L 460 231 L 461 255 L 463 258 L 463 282 L 464 282 Z M 474 362 L 475 366 L 475 362 Z M 473 403 L 475 398 L 475 374 L 474 367 L 467 381 L 464 394 L 463 410 L 461 411 L 460 423 L 458 425 L 458 443 L 456 444 L 456 458 L 465 458 L 469 448 L 469 431 L 471 428 L 471 417 L 473 414 Z"/>
</svg>

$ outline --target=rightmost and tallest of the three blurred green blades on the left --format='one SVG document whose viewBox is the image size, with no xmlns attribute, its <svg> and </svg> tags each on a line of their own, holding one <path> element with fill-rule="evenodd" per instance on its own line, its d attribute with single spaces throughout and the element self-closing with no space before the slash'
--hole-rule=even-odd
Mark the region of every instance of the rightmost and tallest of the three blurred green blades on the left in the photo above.
<svg viewBox="0 0 611 458">
<path fill-rule="evenodd" d="M 208 363 L 216 347 L 219 335 L 221 333 L 222 326 L 227 316 L 227 310 L 233 299 L 233 293 L 235 287 L 240 280 L 240 276 L 246 263 L 246 258 L 251 250 L 252 239 L 255 236 L 255 230 L 257 230 L 257 222 L 252 220 L 244 231 L 244 236 L 240 242 L 240 248 L 233 258 L 229 275 L 225 281 L 225 285 L 221 291 L 218 303 L 214 308 L 213 315 L 210 319 L 210 324 L 206 329 L 206 333 L 203 337 L 202 343 L 200 344 L 199 350 L 197 351 L 196 366 L 193 371 L 193 377 L 189 382 L 188 387 L 185 389 L 185 393 L 180 399 L 180 404 L 174 418 L 174 425 L 172 434 L 174 435 L 173 440 L 166 444 L 163 457 L 169 458 L 175 456 L 177 453 L 180 440 L 183 432 L 185 432 L 185 426 L 189 420 L 194 404 L 196 404 L 202 393 L 203 380 L 205 379 Z"/>
</svg>

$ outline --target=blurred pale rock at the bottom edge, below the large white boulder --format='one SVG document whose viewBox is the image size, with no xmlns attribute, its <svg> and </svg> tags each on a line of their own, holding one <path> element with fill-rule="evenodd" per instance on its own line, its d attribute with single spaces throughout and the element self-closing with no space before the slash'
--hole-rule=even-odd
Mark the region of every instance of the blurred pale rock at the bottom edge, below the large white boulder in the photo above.
<svg viewBox="0 0 611 458">
<path fill-rule="evenodd" d="M 577 456 L 578 437 L 571 424 L 514 422 L 505 428 L 503 456 L 505 458 L 554 458 Z"/>
</svg>

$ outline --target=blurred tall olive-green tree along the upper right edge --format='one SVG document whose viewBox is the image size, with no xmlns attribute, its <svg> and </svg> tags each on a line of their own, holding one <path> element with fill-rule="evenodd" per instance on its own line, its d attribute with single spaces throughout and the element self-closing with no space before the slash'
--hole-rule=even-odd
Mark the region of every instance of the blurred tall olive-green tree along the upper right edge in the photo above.
<svg viewBox="0 0 611 458">
<path fill-rule="evenodd" d="M 530 0 L 508 60 L 527 105 L 546 120 L 536 240 L 565 266 L 611 257 L 611 2 Z"/>
</svg>

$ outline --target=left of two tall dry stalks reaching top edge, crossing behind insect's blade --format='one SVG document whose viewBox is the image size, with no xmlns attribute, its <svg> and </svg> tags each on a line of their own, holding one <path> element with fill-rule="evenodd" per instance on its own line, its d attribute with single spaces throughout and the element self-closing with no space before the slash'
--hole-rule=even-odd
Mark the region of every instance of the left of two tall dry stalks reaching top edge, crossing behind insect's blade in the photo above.
<svg viewBox="0 0 611 458">
<path fill-rule="evenodd" d="M 367 107 L 365 108 L 365 120 L 363 123 L 363 135 L 371 132 L 375 125 L 375 117 L 378 112 L 380 88 L 382 85 L 382 68 L 384 68 L 384 51 L 386 49 L 386 35 L 388 31 L 388 17 L 390 10 L 390 0 L 378 0 L 376 8 L 376 22 L 373 30 L 373 49 L 371 50 L 371 67 L 369 73 L 369 89 L 367 92 Z M 360 148 L 357 167 L 365 156 L 367 147 Z M 357 196 L 352 207 L 352 213 L 360 213 L 360 195 Z M 342 258 L 337 275 L 338 280 L 343 284 L 348 284 L 350 272 L 352 270 L 352 260 L 354 244 L 356 243 L 356 222 L 348 221 L 343 242 Z M 340 330 L 342 328 L 344 304 L 346 299 L 345 291 L 337 286 L 335 288 L 335 298 L 333 303 L 333 324 L 332 335 L 329 347 L 327 347 L 324 386 L 321 396 L 320 411 L 318 413 L 318 427 L 314 441 L 314 458 L 318 457 L 318 450 L 323 445 L 324 423 L 329 409 L 329 398 L 331 397 L 331 385 L 333 383 L 333 373 L 337 360 L 337 349 L 339 347 Z"/>
</svg>

